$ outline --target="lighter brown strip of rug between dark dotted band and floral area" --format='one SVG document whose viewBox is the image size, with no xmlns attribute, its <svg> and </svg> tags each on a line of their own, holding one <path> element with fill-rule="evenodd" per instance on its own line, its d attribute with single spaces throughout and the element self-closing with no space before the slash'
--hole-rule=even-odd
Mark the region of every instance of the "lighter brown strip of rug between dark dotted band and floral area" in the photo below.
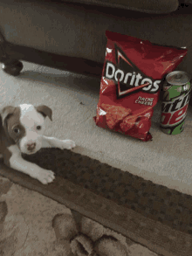
<svg viewBox="0 0 192 256">
<path fill-rule="evenodd" d="M 65 204 L 69 209 L 79 211 L 87 218 L 92 218 L 142 246 L 147 246 L 154 253 L 170 256 L 187 256 L 191 253 L 188 245 L 192 245 L 192 237 L 189 234 L 175 231 L 167 225 L 146 218 L 62 177 L 56 177 L 54 183 L 43 185 L 30 176 L 10 169 L 3 163 L 0 163 L 0 175 L 24 188 L 37 191 L 60 204 Z M 59 190 L 64 191 L 62 197 L 59 195 Z M 149 232 L 150 237 L 147 236 Z M 170 248 L 172 250 L 174 248 L 175 252 L 170 252 Z"/>
</svg>

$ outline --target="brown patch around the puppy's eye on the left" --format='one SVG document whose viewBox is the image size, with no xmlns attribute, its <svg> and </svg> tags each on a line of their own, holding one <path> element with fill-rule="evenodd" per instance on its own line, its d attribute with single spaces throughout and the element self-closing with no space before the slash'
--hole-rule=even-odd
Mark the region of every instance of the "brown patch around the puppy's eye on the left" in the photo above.
<svg viewBox="0 0 192 256">
<path fill-rule="evenodd" d="M 6 112 L 6 109 L 4 112 Z M 8 109 L 6 116 L 3 118 L 3 128 L 5 133 L 9 136 L 11 142 L 15 142 L 18 147 L 19 140 L 25 135 L 24 126 L 19 121 L 20 114 L 20 108 L 14 107 L 10 112 Z"/>
</svg>

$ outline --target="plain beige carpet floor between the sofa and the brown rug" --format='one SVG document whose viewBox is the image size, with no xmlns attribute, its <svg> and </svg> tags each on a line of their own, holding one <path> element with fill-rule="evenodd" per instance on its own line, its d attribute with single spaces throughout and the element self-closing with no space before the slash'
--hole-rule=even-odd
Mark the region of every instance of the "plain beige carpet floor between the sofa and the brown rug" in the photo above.
<svg viewBox="0 0 192 256">
<path fill-rule="evenodd" d="M 72 139 L 84 149 L 77 153 L 192 195 L 192 107 L 182 135 L 170 136 L 159 128 L 158 104 L 150 130 L 154 140 L 141 142 L 95 126 L 99 80 L 26 62 L 19 77 L 0 71 L 0 78 L 0 106 L 43 103 L 52 108 L 46 135 Z"/>
</svg>

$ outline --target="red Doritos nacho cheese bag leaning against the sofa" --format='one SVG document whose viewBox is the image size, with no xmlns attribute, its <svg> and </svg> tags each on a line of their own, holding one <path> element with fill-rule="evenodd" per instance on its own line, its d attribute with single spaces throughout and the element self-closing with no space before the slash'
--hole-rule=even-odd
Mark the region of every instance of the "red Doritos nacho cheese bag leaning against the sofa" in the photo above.
<svg viewBox="0 0 192 256">
<path fill-rule="evenodd" d="M 106 59 L 94 121 L 147 142 L 153 107 L 162 80 L 175 70 L 187 49 L 153 45 L 149 41 L 106 31 Z"/>
</svg>

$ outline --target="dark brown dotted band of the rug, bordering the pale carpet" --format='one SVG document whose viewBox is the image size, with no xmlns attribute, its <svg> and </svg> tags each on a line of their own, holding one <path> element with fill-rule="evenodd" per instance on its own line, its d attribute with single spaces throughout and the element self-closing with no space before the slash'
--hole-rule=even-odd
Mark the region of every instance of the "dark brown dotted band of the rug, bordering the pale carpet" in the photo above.
<svg viewBox="0 0 192 256">
<path fill-rule="evenodd" d="M 147 218 L 192 235 L 192 197 L 189 195 L 67 149 L 41 149 L 34 156 L 24 155 L 24 158 Z"/>
</svg>

